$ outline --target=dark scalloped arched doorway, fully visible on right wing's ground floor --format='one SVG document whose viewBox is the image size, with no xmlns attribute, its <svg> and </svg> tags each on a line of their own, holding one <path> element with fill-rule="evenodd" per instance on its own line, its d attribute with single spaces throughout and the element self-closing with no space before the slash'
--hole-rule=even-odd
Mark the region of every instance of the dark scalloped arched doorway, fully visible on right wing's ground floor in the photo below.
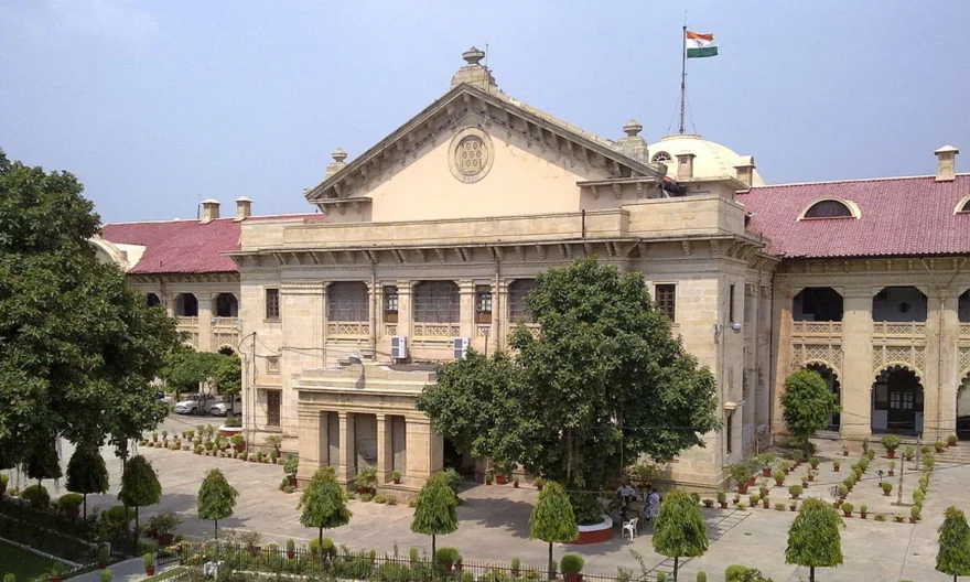
<svg viewBox="0 0 970 582">
<path fill-rule="evenodd" d="M 923 385 L 903 366 L 882 370 L 872 385 L 872 432 L 923 432 Z"/>
</svg>

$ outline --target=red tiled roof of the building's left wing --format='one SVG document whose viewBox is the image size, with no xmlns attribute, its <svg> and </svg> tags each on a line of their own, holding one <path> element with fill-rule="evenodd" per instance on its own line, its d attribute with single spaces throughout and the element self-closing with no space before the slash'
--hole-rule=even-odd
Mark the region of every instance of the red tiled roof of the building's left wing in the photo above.
<svg viewBox="0 0 970 582">
<path fill-rule="evenodd" d="M 303 218 L 323 222 L 322 214 L 292 214 L 280 216 L 252 216 L 247 223 Z M 239 250 L 241 223 L 233 218 L 219 218 L 208 224 L 198 220 L 170 220 L 160 223 L 107 224 L 101 236 L 115 244 L 146 247 L 131 274 L 162 273 L 217 273 L 236 272 L 236 263 L 220 252 Z"/>
</svg>

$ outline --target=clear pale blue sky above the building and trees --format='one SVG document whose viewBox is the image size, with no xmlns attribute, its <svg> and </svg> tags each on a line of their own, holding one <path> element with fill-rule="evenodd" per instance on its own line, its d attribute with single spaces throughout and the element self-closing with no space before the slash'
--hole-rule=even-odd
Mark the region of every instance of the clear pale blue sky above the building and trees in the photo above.
<svg viewBox="0 0 970 582">
<path fill-rule="evenodd" d="M 0 147 L 75 173 L 105 222 L 198 201 L 309 212 L 353 158 L 448 90 L 471 45 L 509 95 L 605 137 L 690 119 L 769 183 L 970 170 L 970 2 L 0 0 Z"/>
</svg>

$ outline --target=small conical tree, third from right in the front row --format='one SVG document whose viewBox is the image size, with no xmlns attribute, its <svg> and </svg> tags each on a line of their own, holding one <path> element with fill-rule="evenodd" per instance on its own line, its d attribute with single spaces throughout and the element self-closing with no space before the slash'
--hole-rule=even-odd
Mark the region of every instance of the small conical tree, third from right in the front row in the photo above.
<svg viewBox="0 0 970 582">
<path fill-rule="evenodd" d="M 657 553 L 673 558 L 673 582 L 680 558 L 694 558 L 708 551 L 708 526 L 693 496 L 672 491 L 664 497 L 653 543 Z"/>
</svg>

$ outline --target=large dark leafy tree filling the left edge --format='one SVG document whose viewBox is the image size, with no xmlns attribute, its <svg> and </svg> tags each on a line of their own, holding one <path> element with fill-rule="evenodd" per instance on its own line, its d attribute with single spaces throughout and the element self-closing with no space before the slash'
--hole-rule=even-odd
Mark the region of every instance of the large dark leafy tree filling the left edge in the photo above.
<svg viewBox="0 0 970 582">
<path fill-rule="evenodd" d="M 175 322 L 97 260 L 100 219 L 82 190 L 0 151 L 0 448 L 119 445 L 165 416 L 151 382 Z"/>
</svg>

